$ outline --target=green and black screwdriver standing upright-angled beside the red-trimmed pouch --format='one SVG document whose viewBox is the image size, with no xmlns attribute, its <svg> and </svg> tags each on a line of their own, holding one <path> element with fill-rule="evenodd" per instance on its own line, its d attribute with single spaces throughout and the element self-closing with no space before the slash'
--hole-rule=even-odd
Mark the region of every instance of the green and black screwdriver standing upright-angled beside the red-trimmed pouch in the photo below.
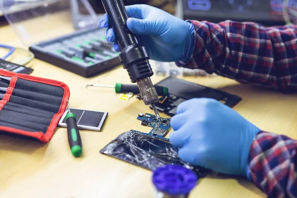
<svg viewBox="0 0 297 198">
<path fill-rule="evenodd" d="M 67 108 L 68 108 L 68 113 L 65 116 L 65 120 L 67 124 L 67 135 L 68 135 L 69 147 L 71 149 L 73 156 L 79 157 L 81 156 L 82 150 L 83 150 L 82 140 L 77 128 L 76 115 L 70 112 L 68 99 L 67 99 Z"/>
</svg>

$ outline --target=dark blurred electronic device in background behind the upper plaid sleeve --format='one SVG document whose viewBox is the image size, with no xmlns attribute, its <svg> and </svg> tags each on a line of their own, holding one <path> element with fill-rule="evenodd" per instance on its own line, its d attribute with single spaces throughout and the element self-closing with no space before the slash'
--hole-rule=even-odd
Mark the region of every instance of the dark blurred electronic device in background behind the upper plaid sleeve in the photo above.
<svg viewBox="0 0 297 198">
<path fill-rule="evenodd" d="M 184 19 L 218 23 L 252 21 L 266 26 L 284 25 L 284 0 L 183 0 Z M 297 0 L 288 7 L 297 8 Z"/>
</svg>

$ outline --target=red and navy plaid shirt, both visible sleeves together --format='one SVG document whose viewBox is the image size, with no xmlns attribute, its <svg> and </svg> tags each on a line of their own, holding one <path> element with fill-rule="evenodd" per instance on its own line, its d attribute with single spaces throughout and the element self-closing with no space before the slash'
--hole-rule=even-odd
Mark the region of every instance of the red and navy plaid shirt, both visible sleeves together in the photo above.
<svg viewBox="0 0 297 198">
<path fill-rule="evenodd" d="M 278 89 L 297 91 L 297 26 L 191 21 L 195 51 L 178 66 Z M 271 198 L 297 197 L 297 141 L 260 132 L 249 153 L 249 176 Z"/>
</svg>

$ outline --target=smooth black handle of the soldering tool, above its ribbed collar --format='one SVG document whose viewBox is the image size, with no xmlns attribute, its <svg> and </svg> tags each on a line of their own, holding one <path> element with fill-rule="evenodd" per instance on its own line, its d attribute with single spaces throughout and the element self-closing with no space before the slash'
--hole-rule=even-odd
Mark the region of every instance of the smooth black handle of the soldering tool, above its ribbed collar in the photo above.
<svg viewBox="0 0 297 198">
<path fill-rule="evenodd" d="M 102 0 L 102 4 L 120 49 L 137 44 L 136 36 L 129 31 L 126 25 L 128 15 L 123 0 Z"/>
</svg>

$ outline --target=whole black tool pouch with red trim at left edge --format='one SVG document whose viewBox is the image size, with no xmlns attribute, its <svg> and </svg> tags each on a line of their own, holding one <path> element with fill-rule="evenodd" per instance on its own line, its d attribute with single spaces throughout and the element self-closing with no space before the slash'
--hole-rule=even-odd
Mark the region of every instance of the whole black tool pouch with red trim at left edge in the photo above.
<svg viewBox="0 0 297 198">
<path fill-rule="evenodd" d="M 0 132 L 49 142 L 66 109 L 70 91 L 66 84 L 26 74 L 0 70 Z"/>
</svg>

